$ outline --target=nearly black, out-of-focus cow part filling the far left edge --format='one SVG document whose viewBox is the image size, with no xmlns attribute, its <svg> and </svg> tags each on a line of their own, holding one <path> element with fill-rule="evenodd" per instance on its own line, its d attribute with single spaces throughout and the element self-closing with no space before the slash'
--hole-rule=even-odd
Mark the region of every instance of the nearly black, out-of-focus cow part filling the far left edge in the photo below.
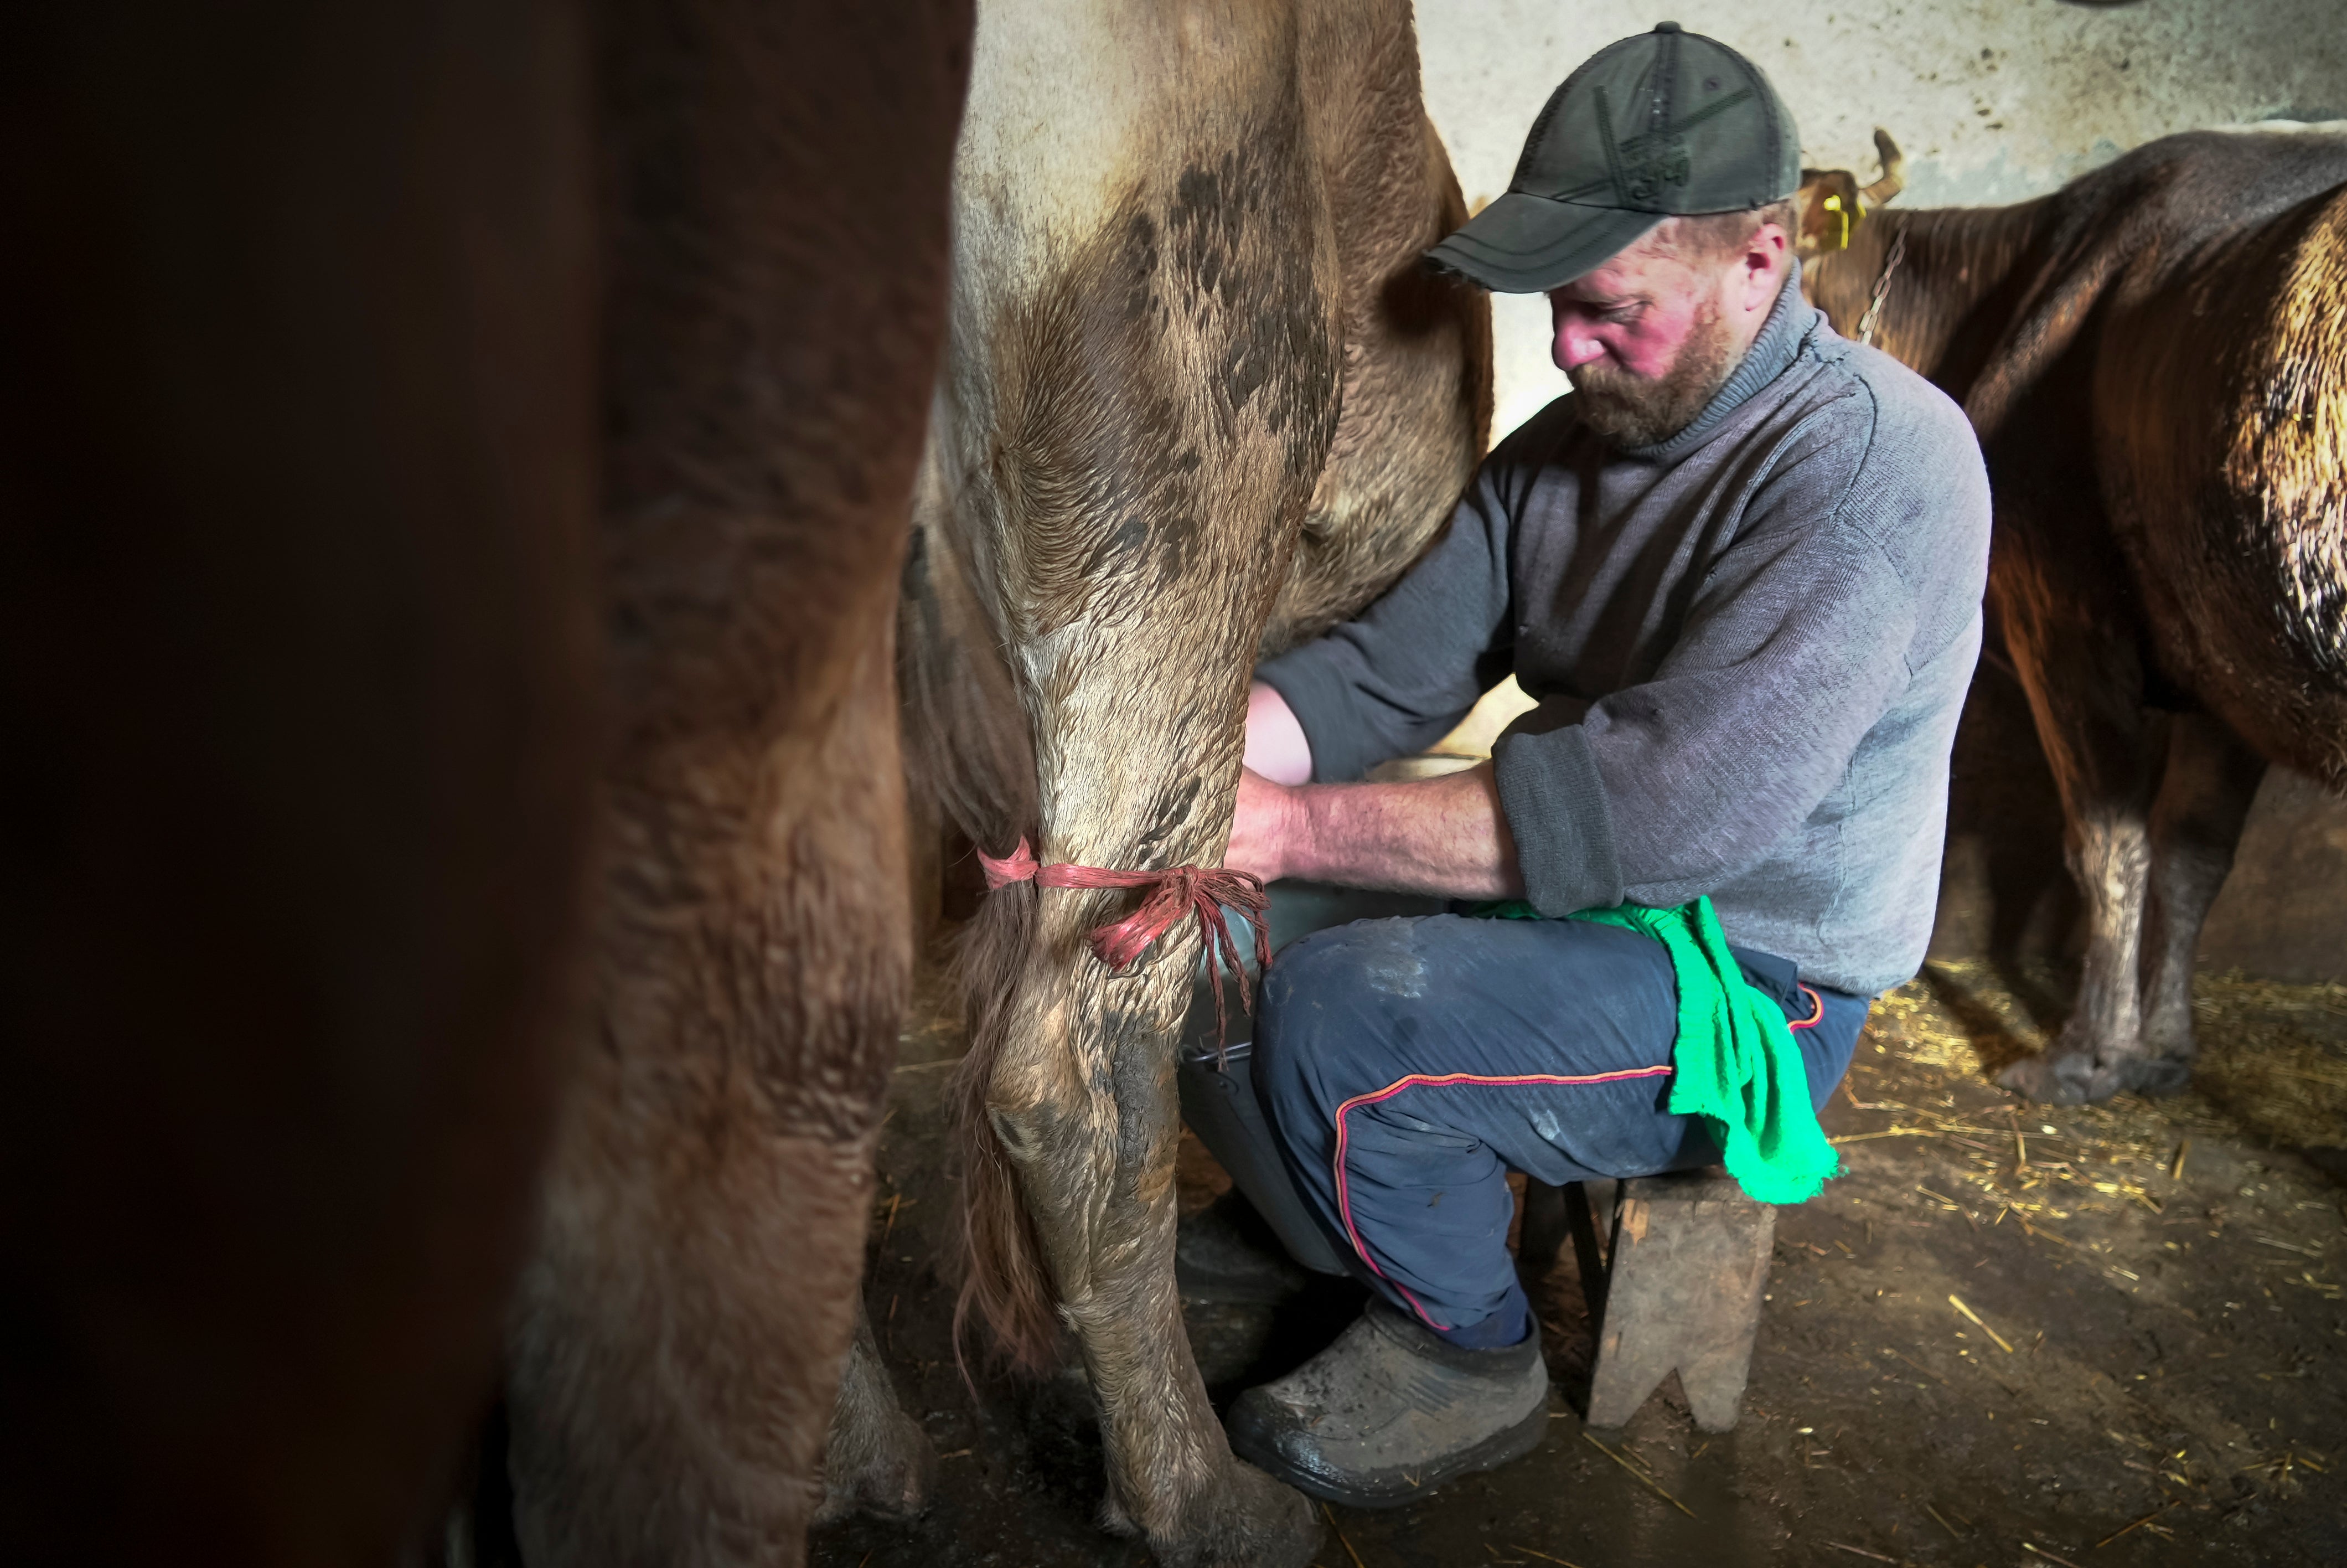
<svg viewBox="0 0 2347 1568">
<path fill-rule="evenodd" d="M 584 31 L 23 5 L 0 61 L 0 1561 L 387 1563 L 566 1056 Z"/>
</svg>

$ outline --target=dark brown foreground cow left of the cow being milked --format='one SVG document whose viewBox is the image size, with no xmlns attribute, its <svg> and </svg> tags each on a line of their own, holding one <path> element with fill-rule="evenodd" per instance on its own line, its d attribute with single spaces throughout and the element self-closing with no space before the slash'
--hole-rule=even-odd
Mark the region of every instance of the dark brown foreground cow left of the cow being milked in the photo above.
<svg viewBox="0 0 2347 1568">
<path fill-rule="evenodd" d="M 800 1559 L 967 38 L 7 12 L 0 1561 Z"/>
</svg>

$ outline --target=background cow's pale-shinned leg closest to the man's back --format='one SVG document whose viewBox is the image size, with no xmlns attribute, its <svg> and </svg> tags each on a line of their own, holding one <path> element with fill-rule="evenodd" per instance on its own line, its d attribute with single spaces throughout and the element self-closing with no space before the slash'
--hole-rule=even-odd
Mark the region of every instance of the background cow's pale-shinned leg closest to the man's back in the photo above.
<svg viewBox="0 0 2347 1568">
<path fill-rule="evenodd" d="M 2070 873 L 2086 906 L 2077 1002 L 2042 1056 L 1997 1077 L 2030 1099 L 2077 1103 L 2131 1089 L 2143 1063 L 2143 911 L 2152 873 L 2152 793 L 2166 725 L 2143 704 L 2145 676 L 2124 582 L 2101 584 L 2023 526 L 1990 566 L 1990 592 L 2061 789 Z"/>
</svg>

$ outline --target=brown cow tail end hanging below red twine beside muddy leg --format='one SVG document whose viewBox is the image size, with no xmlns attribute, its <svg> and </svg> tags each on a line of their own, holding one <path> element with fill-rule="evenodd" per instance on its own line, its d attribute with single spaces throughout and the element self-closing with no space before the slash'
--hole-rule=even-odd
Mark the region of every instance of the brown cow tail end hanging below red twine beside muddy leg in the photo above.
<svg viewBox="0 0 2347 1568">
<path fill-rule="evenodd" d="M 962 934 L 960 981 L 969 1016 L 969 1054 L 955 1077 L 955 1136 L 962 1164 L 960 1277 L 953 1303 L 953 1354 L 962 1357 L 969 1314 L 986 1319 L 1000 1357 L 1021 1373 L 1058 1359 L 1058 1314 L 1035 1221 L 1019 1192 L 1019 1171 L 988 1115 L 988 1087 L 1009 1035 L 1009 1002 L 1035 937 L 1035 885 L 1014 883 L 986 897 Z M 967 1376 L 967 1361 L 965 1376 Z"/>
</svg>

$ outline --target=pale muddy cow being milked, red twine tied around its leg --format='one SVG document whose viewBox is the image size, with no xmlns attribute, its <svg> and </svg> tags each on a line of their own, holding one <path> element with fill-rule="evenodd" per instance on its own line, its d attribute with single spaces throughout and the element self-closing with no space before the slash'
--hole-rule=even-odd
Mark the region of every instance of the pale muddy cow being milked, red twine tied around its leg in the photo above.
<svg viewBox="0 0 2347 1568">
<path fill-rule="evenodd" d="M 1418 261 L 1462 218 L 1399 0 L 983 7 L 904 608 L 915 775 L 976 845 L 1218 864 L 1258 653 L 1389 582 L 1481 455 L 1488 307 Z M 1084 934 L 1134 901 L 1014 883 L 972 922 L 965 1305 L 1028 1366 L 1073 1331 L 1108 1528 L 1305 1563 L 1183 1338 L 1199 946 L 1112 974 Z"/>
</svg>

